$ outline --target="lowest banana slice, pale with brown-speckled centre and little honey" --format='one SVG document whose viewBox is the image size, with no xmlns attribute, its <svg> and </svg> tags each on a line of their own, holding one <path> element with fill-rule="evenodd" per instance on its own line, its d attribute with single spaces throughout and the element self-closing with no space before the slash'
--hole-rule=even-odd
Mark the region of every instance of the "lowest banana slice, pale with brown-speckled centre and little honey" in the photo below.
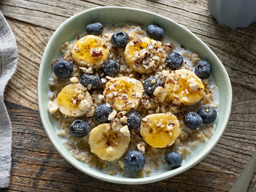
<svg viewBox="0 0 256 192">
<path fill-rule="evenodd" d="M 89 135 L 89 145 L 92 153 L 104 161 L 115 161 L 128 150 L 130 136 L 124 136 L 119 131 L 113 132 L 111 124 L 100 124 L 93 128 Z"/>
</svg>

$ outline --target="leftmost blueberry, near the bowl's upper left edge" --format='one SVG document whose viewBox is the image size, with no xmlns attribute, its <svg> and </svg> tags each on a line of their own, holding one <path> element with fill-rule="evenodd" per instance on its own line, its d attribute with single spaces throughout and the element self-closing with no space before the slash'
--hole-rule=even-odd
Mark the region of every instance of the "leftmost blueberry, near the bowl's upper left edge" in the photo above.
<svg viewBox="0 0 256 192">
<path fill-rule="evenodd" d="M 57 63 L 55 63 L 53 68 L 53 73 L 59 79 L 66 79 L 70 77 L 72 72 L 73 72 L 73 66 L 69 61 L 66 61 L 66 60 L 58 61 Z"/>
</svg>

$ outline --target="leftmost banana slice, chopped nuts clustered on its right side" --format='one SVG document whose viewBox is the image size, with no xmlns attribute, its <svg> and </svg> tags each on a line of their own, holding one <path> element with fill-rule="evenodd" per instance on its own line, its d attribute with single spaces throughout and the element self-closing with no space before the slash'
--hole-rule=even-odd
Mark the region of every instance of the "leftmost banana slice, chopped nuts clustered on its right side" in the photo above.
<svg viewBox="0 0 256 192">
<path fill-rule="evenodd" d="M 85 116 L 93 105 L 90 93 L 81 84 L 65 86 L 57 97 L 60 112 L 69 117 Z"/>
</svg>

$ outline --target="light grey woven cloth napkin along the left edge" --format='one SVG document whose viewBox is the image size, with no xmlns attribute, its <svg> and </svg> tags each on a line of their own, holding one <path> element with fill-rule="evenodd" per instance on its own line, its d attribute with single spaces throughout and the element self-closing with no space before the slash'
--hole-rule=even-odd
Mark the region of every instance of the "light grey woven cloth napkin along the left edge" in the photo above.
<svg viewBox="0 0 256 192">
<path fill-rule="evenodd" d="M 9 186 L 12 164 L 12 124 L 4 105 L 4 88 L 18 62 L 12 30 L 0 11 L 0 188 Z"/>
</svg>

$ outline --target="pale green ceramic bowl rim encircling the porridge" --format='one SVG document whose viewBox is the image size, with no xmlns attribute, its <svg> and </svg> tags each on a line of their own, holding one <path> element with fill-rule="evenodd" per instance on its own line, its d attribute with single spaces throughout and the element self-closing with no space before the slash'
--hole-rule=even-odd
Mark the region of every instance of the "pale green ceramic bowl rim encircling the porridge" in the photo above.
<svg viewBox="0 0 256 192">
<path fill-rule="evenodd" d="M 174 25 L 178 25 L 180 28 L 182 28 L 182 30 L 190 33 L 194 38 L 196 38 L 196 40 L 200 41 L 201 44 L 204 46 L 204 49 L 207 49 L 208 51 L 210 51 L 211 54 L 213 55 L 214 59 L 219 61 L 219 63 L 221 64 L 219 67 L 221 68 L 222 71 L 224 71 L 224 74 L 225 74 L 224 78 L 225 78 L 225 81 L 228 83 L 227 84 L 227 90 L 226 90 L 227 91 L 226 96 L 227 96 L 227 98 L 229 98 L 228 102 L 226 103 L 227 104 L 226 110 L 228 111 L 228 116 L 227 116 L 228 118 L 225 118 L 224 121 L 221 122 L 221 124 L 222 124 L 221 128 L 222 129 L 220 130 L 220 132 L 214 132 L 214 134 L 216 134 L 215 137 L 217 139 L 214 140 L 214 142 L 208 144 L 208 148 L 205 150 L 204 153 L 198 154 L 196 157 L 194 157 L 194 161 L 191 161 L 187 164 L 184 164 L 184 165 L 180 166 L 179 168 L 172 170 L 172 172 L 168 172 L 168 171 L 161 172 L 160 174 L 156 174 L 156 175 L 150 176 L 150 177 L 143 177 L 143 178 L 125 178 L 125 177 L 111 176 L 111 175 L 102 173 L 100 171 L 96 171 L 94 169 L 91 169 L 90 167 L 85 167 L 85 166 L 81 167 L 81 166 L 79 166 L 79 163 L 74 161 L 76 159 L 73 156 L 65 155 L 62 152 L 62 148 L 61 148 L 61 145 L 60 145 L 61 143 L 58 140 L 55 140 L 53 138 L 53 136 L 50 133 L 50 130 L 47 128 L 46 121 L 47 121 L 48 117 L 46 117 L 45 114 L 43 113 L 43 109 L 44 109 L 45 106 L 43 106 L 42 105 L 43 102 L 41 102 L 44 99 L 43 97 L 41 97 L 43 95 L 43 93 L 42 93 L 42 90 L 40 88 L 42 86 L 43 82 L 44 82 L 43 81 L 44 68 L 43 68 L 43 65 L 41 65 L 41 64 L 45 63 L 44 60 L 46 60 L 46 58 L 47 58 L 47 52 L 49 52 L 48 49 L 51 46 L 51 44 L 53 43 L 54 37 L 57 36 L 58 32 L 61 31 L 62 28 L 64 28 L 66 25 L 68 25 L 68 23 L 70 21 L 72 21 L 73 19 L 76 19 L 76 18 L 80 17 L 81 15 L 86 14 L 87 12 L 100 11 L 100 10 L 109 9 L 109 8 L 116 9 L 116 10 L 125 9 L 125 10 L 143 12 L 143 13 L 146 13 L 146 14 L 154 15 L 155 17 L 159 17 L 159 18 L 163 18 L 165 20 L 168 20 L 169 22 L 171 22 Z M 135 8 L 128 8 L 128 7 L 103 6 L 103 7 L 94 7 L 94 8 L 91 8 L 91 9 L 87 9 L 83 12 L 79 12 L 79 13 L 73 15 L 72 17 L 65 20 L 56 29 L 56 31 L 52 34 L 51 38 L 49 39 L 49 41 L 48 41 L 48 43 L 45 47 L 44 54 L 43 54 L 43 57 L 42 57 L 42 60 L 41 60 L 41 63 L 40 63 L 40 68 L 39 68 L 39 73 L 38 73 L 37 99 L 38 99 L 39 114 L 40 114 L 40 118 L 41 118 L 44 130 L 45 130 L 48 138 L 52 142 L 53 146 L 60 153 L 60 155 L 68 161 L 68 163 L 70 163 L 71 165 L 76 167 L 78 170 L 80 170 L 80 171 L 82 171 L 82 172 L 84 172 L 84 173 L 86 173 L 86 174 L 88 174 L 88 175 L 90 175 L 94 178 L 100 179 L 100 180 L 104 180 L 104 181 L 108 181 L 108 182 L 112 182 L 112 183 L 120 183 L 120 184 L 145 184 L 145 183 L 156 182 L 156 181 L 159 181 L 159 180 L 164 180 L 164 179 L 170 178 L 172 176 L 175 176 L 175 175 L 177 175 L 181 172 L 184 172 L 184 171 L 188 170 L 189 168 L 191 168 L 192 166 L 199 163 L 202 159 L 204 159 L 205 156 L 207 156 L 212 151 L 212 149 L 215 147 L 215 145 L 219 142 L 219 140 L 220 140 L 223 132 L 225 131 L 227 124 L 228 124 L 228 120 L 229 120 L 230 112 L 231 112 L 231 104 L 232 104 L 232 87 L 231 87 L 231 83 L 230 83 L 228 73 L 227 73 L 225 67 L 223 66 L 223 64 L 221 63 L 221 61 L 218 59 L 218 57 L 214 54 L 214 52 L 212 52 L 212 50 L 201 39 L 199 39 L 195 34 L 193 34 L 187 28 L 183 27 L 179 23 L 177 23 L 177 22 L 175 22 L 175 21 L 173 21 L 173 20 L 171 20 L 167 17 L 156 14 L 154 12 L 149 12 L 149 11 L 145 11 L 145 10 L 141 10 L 141 9 L 135 9 Z"/>
</svg>

